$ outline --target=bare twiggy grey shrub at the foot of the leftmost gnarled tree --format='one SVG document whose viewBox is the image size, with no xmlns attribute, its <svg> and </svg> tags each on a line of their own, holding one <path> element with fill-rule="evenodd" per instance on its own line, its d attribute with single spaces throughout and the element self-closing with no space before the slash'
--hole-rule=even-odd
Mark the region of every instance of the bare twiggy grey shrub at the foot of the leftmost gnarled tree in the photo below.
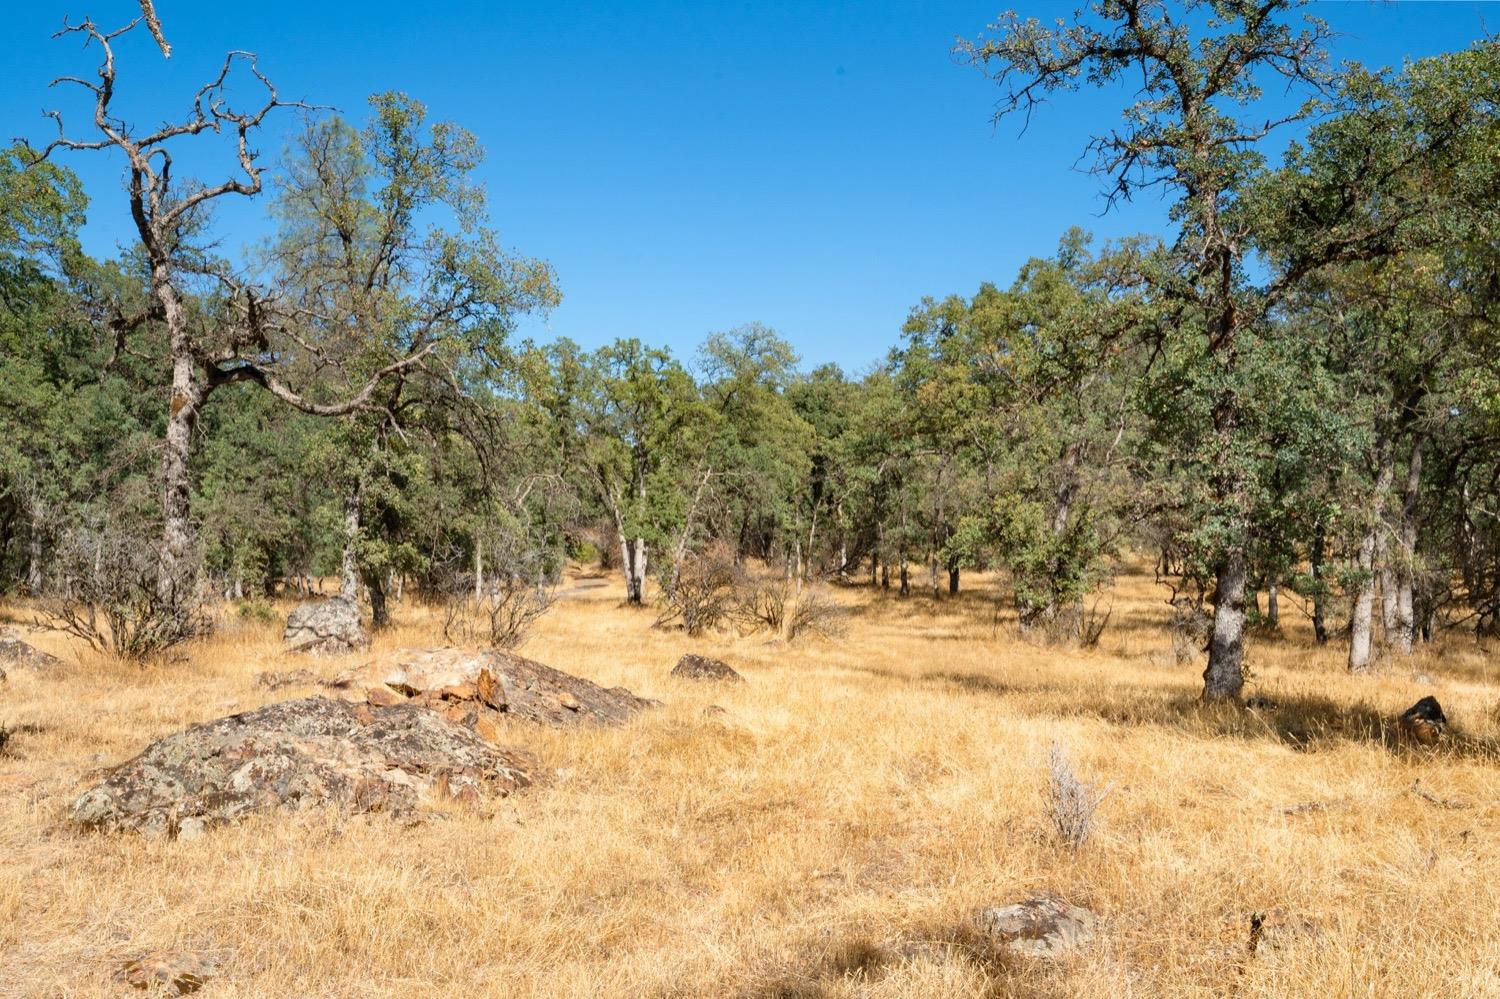
<svg viewBox="0 0 1500 999">
<path fill-rule="evenodd" d="M 102 652 L 146 662 L 208 632 L 196 566 L 162 590 L 159 549 L 123 531 L 76 531 L 57 550 L 58 591 L 45 624 Z"/>
</svg>

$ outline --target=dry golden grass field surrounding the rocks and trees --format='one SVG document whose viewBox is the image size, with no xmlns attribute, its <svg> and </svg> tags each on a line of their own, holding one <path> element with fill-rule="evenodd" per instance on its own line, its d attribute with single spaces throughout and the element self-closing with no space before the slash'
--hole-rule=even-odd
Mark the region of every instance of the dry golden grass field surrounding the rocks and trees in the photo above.
<svg viewBox="0 0 1500 999">
<path fill-rule="evenodd" d="M 1209 710 L 1148 576 L 1119 580 L 1094 651 L 1020 640 L 990 586 L 840 590 L 846 638 L 780 646 L 654 630 L 614 578 L 574 576 L 520 651 L 662 708 L 514 726 L 555 777 L 477 808 L 192 842 L 66 812 L 150 740 L 314 692 L 260 672 L 360 657 L 300 660 L 237 616 L 148 669 L 33 633 L 69 664 L 0 687 L 0 994 L 118 994 L 123 960 L 180 948 L 218 962 L 202 996 L 1500 996 L 1496 660 L 1472 640 L 1419 657 L 1432 686 L 1350 678 L 1288 620 L 1251 646 L 1270 704 Z M 405 604 L 376 648 L 438 632 Z M 669 678 L 690 650 L 748 682 Z M 1455 738 L 1389 744 L 1426 693 Z M 1114 784 L 1076 850 L 1048 834 L 1053 740 Z M 962 944 L 980 908 L 1041 891 L 1096 910 L 1098 939 L 1056 964 Z M 1278 908 L 1308 928 L 1251 954 L 1251 914 Z"/>
</svg>

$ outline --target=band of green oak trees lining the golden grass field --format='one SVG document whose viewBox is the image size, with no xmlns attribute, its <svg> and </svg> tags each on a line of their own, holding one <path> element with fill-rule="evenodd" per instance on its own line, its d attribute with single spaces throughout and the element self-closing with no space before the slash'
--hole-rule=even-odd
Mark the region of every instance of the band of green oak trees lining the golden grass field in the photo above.
<svg viewBox="0 0 1500 999">
<path fill-rule="evenodd" d="M 1500 42 L 1335 66 L 1298 8 L 1095 0 L 960 44 L 998 94 L 976 128 L 1124 94 L 1080 153 L 1170 230 L 1059 232 L 892 316 L 860 374 L 807 370 L 759 324 L 692 357 L 519 339 L 560 279 L 490 228 L 506 206 L 460 124 L 404 93 L 350 117 L 288 102 L 231 54 L 141 129 L 111 108 L 116 52 L 150 28 L 165 56 L 160 26 L 69 24 L 96 64 L 0 162 L 0 590 L 99 609 L 144 656 L 208 602 L 318 576 L 380 624 L 393 598 L 544 588 L 568 560 L 636 603 L 710 558 L 930 598 L 996 568 L 1023 628 L 1078 642 L 1108 627 L 1112 573 L 1154 564 L 1204 614 L 1224 699 L 1288 606 L 1353 670 L 1497 632 Z M 267 129 L 288 135 L 272 159 Z M 218 172 L 174 172 L 202 144 Z M 90 202 L 81 156 L 123 189 Z M 220 255 L 230 200 L 270 232 L 246 260 Z M 135 244 L 84 254 L 90 212 Z"/>
</svg>

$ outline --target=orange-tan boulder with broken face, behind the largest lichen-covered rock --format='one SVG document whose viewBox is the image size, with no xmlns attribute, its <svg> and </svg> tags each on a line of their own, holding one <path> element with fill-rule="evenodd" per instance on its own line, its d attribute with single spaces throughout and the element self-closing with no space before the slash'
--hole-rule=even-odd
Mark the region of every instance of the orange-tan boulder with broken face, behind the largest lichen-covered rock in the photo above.
<svg viewBox="0 0 1500 999">
<path fill-rule="evenodd" d="M 476 724 L 498 716 L 552 726 L 618 724 L 656 702 L 502 650 L 400 650 L 338 676 L 350 700 L 416 702 Z"/>
</svg>

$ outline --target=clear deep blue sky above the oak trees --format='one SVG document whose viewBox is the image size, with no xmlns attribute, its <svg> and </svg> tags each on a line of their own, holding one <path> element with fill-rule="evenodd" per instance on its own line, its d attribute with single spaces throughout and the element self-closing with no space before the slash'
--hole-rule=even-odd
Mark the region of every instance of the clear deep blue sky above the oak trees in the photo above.
<svg viewBox="0 0 1500 999">
<path fill-rule="evenodd" d="M 1012 0 L 1062 16 L 1072 3 Z M 63 14 L 129 20 L 132 0 L 28 0 L 0 39 L 4 136 L 50 138 L 46 90 L 88 75 Z M 1096 178 L 1074 170 L 1116 94 L 1078 94 L 1018 126 L 990 126 L 993 84 L 957 64 L 1005 0 L 872 3 L 477 3 L 156 0 L 174 45 L 120 51 L 120 105 L 174 117 L 224 51 L 252 50 L 284 96 L 363 116 L 370 92 L 405 90 L 474 130 L 506 242 L 544 256 L 564 303 L 538 339 L 592 346 L 639 336 L 690 356 L 752 320 L 807 364 L 860 369 L 897 340 L 926 294 L 1008 284 L 1070 225 L 1102 236 L 1161 228 L 1149 201 L 1100 218 Z M 1500 30 L 1500 3 L 1318 3 L 1338 58 L 1400 64 Z M 279 154 L 266 142 L 267 159 Z M 88 249 L 129 237 L 117 158 L 74 153 L 94 202 Z M 219 172 L 219 171 L 216 171 Z M 264 231 L 261 208 L 222 216 L 224 246 Z"/>
</svg>

